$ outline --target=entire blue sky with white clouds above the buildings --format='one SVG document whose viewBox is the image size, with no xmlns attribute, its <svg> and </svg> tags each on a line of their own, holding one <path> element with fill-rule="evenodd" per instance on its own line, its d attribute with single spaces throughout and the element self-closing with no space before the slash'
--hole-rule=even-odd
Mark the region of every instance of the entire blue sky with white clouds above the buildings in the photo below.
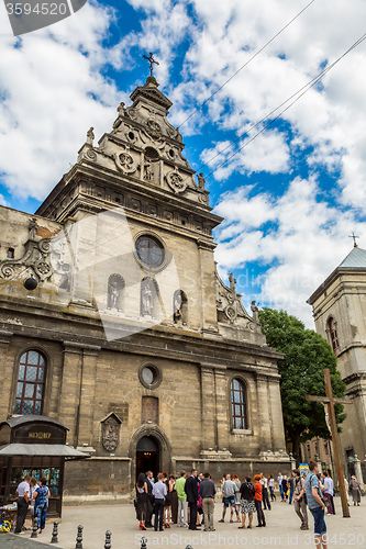
<svg viewBox="0 0 366 549">
<path fill-rule="evenodd" d="M 111 128 L 117 105 L 148 74 L 142 55 L 154 52 L 175 103 L 170 122 L 191 166 L 206 164 L 211 205 L 225 217 L 215 232 L 222 277 L 234 272 L 246 306 L 256 299 L 312 326 L 306 299 L 351 250 L 352 231 L 366 248 L 366 42 L 239 149 L 265 124 L 248 127 L 364 34 L 366 2 L 314 0 L 184 123 L 308 3 L 93 0 L 21 38 L 0 4 L 1 203 L 33 212 L 86 131 Z"/>
</svg>

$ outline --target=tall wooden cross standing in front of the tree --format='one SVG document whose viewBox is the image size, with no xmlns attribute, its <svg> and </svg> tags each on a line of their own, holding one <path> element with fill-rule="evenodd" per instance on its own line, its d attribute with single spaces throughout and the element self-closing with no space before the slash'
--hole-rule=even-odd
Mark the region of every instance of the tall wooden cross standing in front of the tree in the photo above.
<svg viewBox="0 0 366 549">
<path fill-rule="evenodd" d="M 353 401 L 348 399 L 334 399 L 332 391 L 332 382 L 331 382 L 331 373 L 329 368 L 324 368 L 324 382 L 325 382 L 325 394 L 326 396 L 307 396 L 307 401 L 321 402 L 322 404 L 326 404 L 328 413 L 330 418 L 330 427 L 331 427 L 331 436 L 333 441 L 333 450 L 334 450 L 334 462 L 336 477 L 339 479 L 339 486 L 341 493 L 341 502 L 342 502 L 342 511 L 344 517 L 350 517 L 350 506 L 347 502 L 347 494 L 344 485 L 344 477 L 343 477 L 343 468 L 342 468 L 342 458 L 341 458 L 341 446 L 340 446 L 340 437 L 336 427 L 335 419 L 335 410 L 334 404 L 353 404 Z"/>
</svg>

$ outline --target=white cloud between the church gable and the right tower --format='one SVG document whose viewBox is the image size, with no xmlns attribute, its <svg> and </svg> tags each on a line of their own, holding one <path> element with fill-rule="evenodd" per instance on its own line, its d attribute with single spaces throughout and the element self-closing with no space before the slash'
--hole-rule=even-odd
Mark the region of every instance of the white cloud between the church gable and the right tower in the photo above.
<svg viewBox="0 0 366 549">
<path fill-rule="evenodd" d="M 348 254 L 350 233 L 366 234 L 366 223 L 357 222 L 351 211 L 331 208 L 318 193 L 314 179 L 297 178 L 280 198 L 249 197 L 241 188 L 224 194 L 215 208 L 226 216 L 217 232 L 217 258 L 223 272 L 242 269 L 237 282 L 247 301 L 257 283 L 256 299 L 262 304 L 282 307 L 310 327 L 306 300 Z M 267 222 L 271 225 L 265 229 Z M 267 267 L 257 281 L 251 274 L 253 262 Z"/>
</svg>

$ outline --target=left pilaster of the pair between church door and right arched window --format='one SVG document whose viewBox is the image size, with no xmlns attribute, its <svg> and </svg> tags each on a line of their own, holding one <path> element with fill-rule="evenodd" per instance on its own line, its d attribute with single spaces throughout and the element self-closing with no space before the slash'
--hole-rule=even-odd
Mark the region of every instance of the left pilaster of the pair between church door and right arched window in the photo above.
<svg viewBox="0 0 366 549">
<path fill-rule="evenodd" d="M 215 393 L 213 367 L 201 365 L 202 450 L 215 449 Z"/>
</svg>

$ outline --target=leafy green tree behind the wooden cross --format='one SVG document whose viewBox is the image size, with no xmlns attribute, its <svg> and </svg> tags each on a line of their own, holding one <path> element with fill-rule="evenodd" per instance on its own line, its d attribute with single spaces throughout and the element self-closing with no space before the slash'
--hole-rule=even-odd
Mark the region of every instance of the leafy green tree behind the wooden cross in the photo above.
<svg viewBox="0 0 366 549">
<path fill-rule="evenodd" d="M 285 433 L 298 459 L 301 442 L 314 436 L 330 438 L 323 404 L 309 402 L 306 396 L 325 395 L 324 368 L 330 369 L 334 396 L 344 396 L 345 383 L 331 346 L 317 332 L 306 329 L 301 321 L 285 311 L 268 307 L 259 311 L 259 321 L 267 344 L 285 355 L 278 362 Z M 346 417 L 343 408 L 342 404 L 335 405 L 339 425 Z"/>
</svg>

